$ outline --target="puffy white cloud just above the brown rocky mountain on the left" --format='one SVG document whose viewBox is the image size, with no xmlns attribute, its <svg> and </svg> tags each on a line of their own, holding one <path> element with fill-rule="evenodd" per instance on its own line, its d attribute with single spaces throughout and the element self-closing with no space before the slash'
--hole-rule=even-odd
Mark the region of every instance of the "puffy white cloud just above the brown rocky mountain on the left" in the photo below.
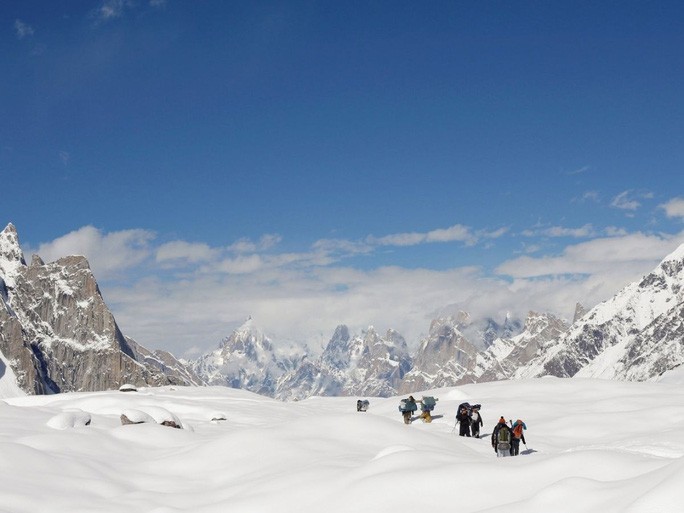
<svg viewBox="0 0 684 513">
<path fill-rule="evenodd" d="M 36 250 L 46 262 L 67 255 L 83 255 L 88 259 L 96 278 L 104 279 L 137 266 L 151 253 L 154 239 L 148 230 L 122 230 L 103 234 L 93 226 L 84 226 Z"/>
</svg>

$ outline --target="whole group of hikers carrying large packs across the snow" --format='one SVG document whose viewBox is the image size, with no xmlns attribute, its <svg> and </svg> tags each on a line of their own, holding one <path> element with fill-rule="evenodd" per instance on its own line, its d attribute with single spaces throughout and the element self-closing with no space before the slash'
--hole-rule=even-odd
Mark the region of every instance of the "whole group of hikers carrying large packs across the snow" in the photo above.
<svg viewBox="0 0 684 513">
<path fill-rule="evenodd" d="M 410 424 L 413 421 L 413 412 L 418 410 L 420 404 L 420 416 L 423 422 L 432 422 L 432 411 L 438 399 L 431 396 L 423 396 L 422 399 L 416 401 L 411 395 L 408 399 L 402 399 L 399 403 L 399 411 L 401 412 L 404 423 Z M 480 428 L 484 425 L 482 416 L 480 415 L 480 408 L 482 405 L 469 403 L 461 403 L 456 411 L 456 423 L 460 425 L 459 436 L 472 436 L 480 438 Z M 357 403 L 357 410 L 359 410 L 359 403 Z M 365 411 L 365 410 L 363 410 Z M 510 425 L 509 425 L 510 424 Z M 456 424 L 454 424 L 454 430 Z M 525 441 L 524 431 L 527 430 L 527 425 L 520 419 L 508 423 L 502 416 L 492 430 L 491 443 L 497 457 L 504 456 L 518 456 L 520 454 L 520 442 L 527 446 Z"/>
</svg>

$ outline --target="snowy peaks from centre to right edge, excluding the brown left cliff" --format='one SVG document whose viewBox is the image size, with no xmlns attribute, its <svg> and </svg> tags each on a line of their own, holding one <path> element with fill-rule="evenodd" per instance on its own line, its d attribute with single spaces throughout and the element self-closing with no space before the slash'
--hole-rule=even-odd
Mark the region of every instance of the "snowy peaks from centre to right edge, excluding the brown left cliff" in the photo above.
<svg viewBox="0 0 684 513">
<path fill-rule="evenodd" d="M 214 356 L 200 359 L 195 371 L 213 384 L 240 386 L 280 399 L 387 397 L 537 376 L 657 380 L 684 363 L 683 296 L 684 245 L 612 299 L 588 312 L 578 304 L 572 325 L 548 313 L 530 312 L 522 332 L 513 335 L 514 323 L 507 324 L 511 321 L 507 319 L 500 327 L 505 335 L 488 335 L 485 340 L 491 342 L 484 350 L 466 336 L 473 328 L 462 313 L 435 319 L 413 355 L 396 332 L 381 336 L 370 327 L 361 335 L 351 335 L 341 325 L 319 358 L 284 362 L 269 351 L 274 344 L 264 344 L 263 335 L 249 321 Z M 490 329 L 486 326 L 482 332 Z M 245 351 L 249 343 L 260 347 L 260 352 Z M 259 356 L 250 359 L 249 354 Z"/>
</svg>

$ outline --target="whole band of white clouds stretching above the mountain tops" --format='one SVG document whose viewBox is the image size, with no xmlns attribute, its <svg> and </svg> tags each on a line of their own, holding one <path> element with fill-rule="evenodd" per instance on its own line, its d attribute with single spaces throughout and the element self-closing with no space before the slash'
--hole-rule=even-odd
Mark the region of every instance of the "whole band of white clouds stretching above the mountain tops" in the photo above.
<svg viewBox="0 0 684 513">
<path fill-rule="evenodd" d="M 107 283 L 105 296 L 122 330 L 149 347 L 178 356 L 213 349 L 247 316 L 275 340 L 325 344 L 338 324 L 354 332 L 374 325 L 393 328 L 415 346 L 438 312 L 466 310 L 473 317 L 524 317 L 528 310 L 569 317 L 581 301 L 591 307 L 649 272 L 679 242 L 678 235 L 624 234 L 567 246 L 557 256 L 521 256 L 487 275 L 478 267 L 445 270 L 342 265 L 349 255 L 382 246 L 321 240 L 310 251 L 236 252 L 236 246 L 173 241 L 153 248 L 154 234 L 127 230 L 102 234 L 84 227 L 41 245 L 46 259 L 86 254 L 96 274 L 113 275 L 154 257 L 160 264 L 181 261 L 182 276 L 157 267 L 146 278 L 121 275 Z M 435 240 L 460 237 L 469 230 L 432 233 Z M 501 236 L 505 230 L 489 234 Z M 484 237 L 485 235 L 479 235 Z M 259 246 L 272 248 L 271 236 Z M 244 243 L 245 241 L 240 241 Z M 245 246 L 246 247 L 246 246 Z M 195 271 L 195 272 L 192 272 Z M 192 348 L 192 349 L 190 349 Z"/>
</svg>

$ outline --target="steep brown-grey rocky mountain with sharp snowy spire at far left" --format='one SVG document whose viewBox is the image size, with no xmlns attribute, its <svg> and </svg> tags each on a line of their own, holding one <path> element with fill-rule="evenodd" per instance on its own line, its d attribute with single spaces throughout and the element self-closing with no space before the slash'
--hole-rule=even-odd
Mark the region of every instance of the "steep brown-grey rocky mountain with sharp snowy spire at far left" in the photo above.
<svg viewBox="0 0 684 513">
<path fill-rule="evenodd" d="M 0 353 L 29 394 L 201 382 L 124 338 L 84 257 L 26 265 L 11 224 L 0 232 Z"/>
</svg>

